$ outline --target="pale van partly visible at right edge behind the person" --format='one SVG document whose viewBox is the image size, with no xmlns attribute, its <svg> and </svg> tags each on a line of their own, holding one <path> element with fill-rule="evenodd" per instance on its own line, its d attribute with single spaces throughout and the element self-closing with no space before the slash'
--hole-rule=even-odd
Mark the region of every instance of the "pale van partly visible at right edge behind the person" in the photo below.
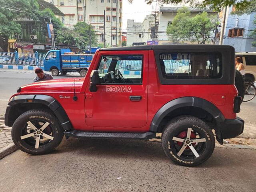
<svg viewBox="0 0 256 192">
<path fill-rule="evenodd" d="M 236 52 L 241 57 L 245 67 L 245 81 L 256 80 L 256 52 Z"/>
</svg>

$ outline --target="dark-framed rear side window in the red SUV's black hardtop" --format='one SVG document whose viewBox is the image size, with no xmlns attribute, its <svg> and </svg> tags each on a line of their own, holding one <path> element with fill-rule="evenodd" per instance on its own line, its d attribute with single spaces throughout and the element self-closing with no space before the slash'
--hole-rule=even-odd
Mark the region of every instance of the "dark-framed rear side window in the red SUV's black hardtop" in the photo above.
<svg viewBox="0 0 256 192">
<path fill-rule="evenodd" d="M 216 79 L 222 76 L 222 55 L 218 52 L 179 52 L 159 55 L 166 79 Z"/>
</svg>

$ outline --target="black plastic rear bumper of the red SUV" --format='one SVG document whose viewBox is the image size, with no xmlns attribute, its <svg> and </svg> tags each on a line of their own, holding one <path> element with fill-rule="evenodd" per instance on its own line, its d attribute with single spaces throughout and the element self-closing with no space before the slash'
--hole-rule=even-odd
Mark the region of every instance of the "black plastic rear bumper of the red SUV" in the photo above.
<svg viewBox="0 0 256 192">
<path fill-rule="evenodd" d="M 236 119 L 226 119 L 220 123 L 219 130 L 223 139 L 234 138 L 244 131 L 244 120 L 239 117 Z"/>
</svg>

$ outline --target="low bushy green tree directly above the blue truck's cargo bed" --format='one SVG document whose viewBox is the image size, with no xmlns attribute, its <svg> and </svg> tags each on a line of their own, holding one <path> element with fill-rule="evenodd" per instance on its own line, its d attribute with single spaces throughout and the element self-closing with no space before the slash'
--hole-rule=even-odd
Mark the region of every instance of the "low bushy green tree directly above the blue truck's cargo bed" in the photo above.
<svg viewBox="0 0 256 192">
<path fill-rule="evenodd" d="M 56 33 L 56 42 L 67 46 L 76 46 L 80 50 L 85 50 L 88 46 L 84 37 L 70 29 L 58 30 Z"/>
</svg>

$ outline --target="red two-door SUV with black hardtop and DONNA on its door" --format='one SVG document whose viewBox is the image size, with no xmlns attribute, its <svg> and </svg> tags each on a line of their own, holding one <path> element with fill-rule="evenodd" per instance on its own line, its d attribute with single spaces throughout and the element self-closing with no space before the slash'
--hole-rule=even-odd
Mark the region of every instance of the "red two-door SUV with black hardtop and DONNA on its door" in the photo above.
<svg viewBox="0 0 256 192">
<path fill-rule="evenodd" d="M 220 144 L 243 132 L 234 59 L 231 46 L 103 48 L 85 78 L 18 88 L 5 124 L 29 154 L 54 150 L 64 135 L 150 139 L 162 133 L 165 154 L 195 166 L 214 150 L 212 130 Z"/>
</svg>

